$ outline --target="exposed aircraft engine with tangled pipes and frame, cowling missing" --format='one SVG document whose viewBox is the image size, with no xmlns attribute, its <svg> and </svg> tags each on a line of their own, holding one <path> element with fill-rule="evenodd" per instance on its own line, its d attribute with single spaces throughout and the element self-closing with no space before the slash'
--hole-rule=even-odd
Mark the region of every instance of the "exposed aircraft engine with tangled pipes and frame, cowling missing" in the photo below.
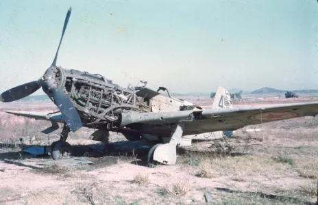
<svg viewBox="0 0 318 205">
<path fill-rule="evenodd" d="M 65 83 L 66 92 L 86 126 L 118 125 L 120 113 L 139 109 L 134 90 L 115 85 L 99 74 L 58 68 L 60 83 Z M 64 76 L 64 77 L 63 77 Z M 65 80 L 62 80 L 62 79 Z"/>
</svg>

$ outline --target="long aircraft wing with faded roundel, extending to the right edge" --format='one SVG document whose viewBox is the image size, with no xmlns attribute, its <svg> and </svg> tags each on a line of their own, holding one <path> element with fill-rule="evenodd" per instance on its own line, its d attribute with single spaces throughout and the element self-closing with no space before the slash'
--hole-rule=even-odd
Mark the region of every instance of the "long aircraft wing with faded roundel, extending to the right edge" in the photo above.
<svg viewBox="0 0 318 205">
<path fill-rule="evenodd" d="M 121 126 L 128 124 L 175 124 L 180 120 L 186 122 L 183 135 L 195 135 L 214 131 L 234 131 L 252 124 L 274 122 L 315 116 L 318 114 L 318 102 L 306 102 L 284 105 L 229 107 L 212 109 L 195 109 L 191 111 L 172 111 L 161 113 L 123 113 Z"/>
</svg>

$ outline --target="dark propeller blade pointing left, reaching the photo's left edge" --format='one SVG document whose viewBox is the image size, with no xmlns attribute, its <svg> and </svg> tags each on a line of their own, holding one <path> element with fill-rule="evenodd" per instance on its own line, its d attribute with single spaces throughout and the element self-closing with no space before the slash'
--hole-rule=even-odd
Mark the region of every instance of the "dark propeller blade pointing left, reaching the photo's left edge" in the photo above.
<svg viewBox="0 0 318 205">
<path fill-rule="evenodd" d="M 38 84 L 38 81 L 32 81 L 13 87 L 0 95 L 0 101 L 12 102 L 14 100 L 20 100 L 21 98 L 25 98 L 26 96 L 36 92 L 36 90 L 38 90 L 40 87 L 41 86 Z"/>
</svg>

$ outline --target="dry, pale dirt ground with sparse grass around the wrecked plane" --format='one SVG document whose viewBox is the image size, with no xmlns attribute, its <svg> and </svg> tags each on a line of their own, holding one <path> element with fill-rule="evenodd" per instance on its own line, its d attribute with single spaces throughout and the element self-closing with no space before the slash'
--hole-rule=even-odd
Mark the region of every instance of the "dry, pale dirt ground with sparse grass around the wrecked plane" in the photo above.
<svg viewBox="0 0 318 205">
<path fill-rule="evenodd" d="M 212 105 L 208 97 L 185 96 L 198 105 Z M 315 100 L 254 96 L 234 106 Z M 318 100 L 317 100 L 318 101 Z M 198 103 L 201 102 L 201 103 Z M 253 103 L 252 103 L 253 102 Z M 56 140 L 40 133 L 49 123 L 25 120 L 1 111 L 53 111 L 48 102 L 0 104 L 0 204 L 314 204 L 318 186 L 317 118 L 298 118 L 248 126 L 234 137 L 199 141 L 178 150 L 176 165 L 146 166 L 147 148 L 123 149 L 102 157 L 77 156 L 92 165 L 38 165 L 48 156 L 30 159 L 21 151 L 32 145 L 47 146 Z M 23 119 L 23 120 L 22 120 Z M 91 130 L 71 135 L 73 146 L 87 146 Z M 21 143 L 19 137 L 34 136 Z M 112 133 L 120 146 L 125 138 Z M 127 143 L 127 142 L 125 142 Z M 14 161 L 10 161 L 14 160 Z"/>
</svg>

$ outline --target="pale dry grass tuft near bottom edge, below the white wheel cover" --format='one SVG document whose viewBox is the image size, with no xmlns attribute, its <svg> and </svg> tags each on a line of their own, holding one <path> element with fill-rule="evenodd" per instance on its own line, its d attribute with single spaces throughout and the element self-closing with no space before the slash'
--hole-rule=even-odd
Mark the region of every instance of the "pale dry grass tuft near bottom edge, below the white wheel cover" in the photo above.
<svg viewBox="0 0 318 205">
<path fill-rule="evenodd" d="M 164 193 L 169 195 L 186 195 L 191 190 L 191 182 L 189 179 L 183 178 L 176 183 L 166 184 Z"/>
</svg>

